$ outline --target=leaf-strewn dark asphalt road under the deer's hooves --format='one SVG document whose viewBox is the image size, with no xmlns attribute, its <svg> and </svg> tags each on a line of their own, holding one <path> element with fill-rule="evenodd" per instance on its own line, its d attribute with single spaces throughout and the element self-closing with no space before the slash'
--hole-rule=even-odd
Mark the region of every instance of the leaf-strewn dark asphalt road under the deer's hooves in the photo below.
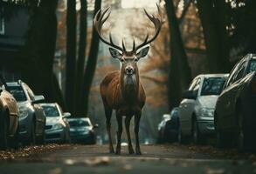
<svg viewBox="0 0 256 174">
<path fill-rule="evenodd" d="M 255 159 L 232 159 L 228 153 L 211 148 L 142 145 L 142 153 L 142 156 L 128 155 L 127 147 L 122 147 L 121 156 L 116 156 L 107 153 L 107 145 L 74 144 L 57 151 L 2 161 L 0 173 L 256 173 Z"/>
</svg>

